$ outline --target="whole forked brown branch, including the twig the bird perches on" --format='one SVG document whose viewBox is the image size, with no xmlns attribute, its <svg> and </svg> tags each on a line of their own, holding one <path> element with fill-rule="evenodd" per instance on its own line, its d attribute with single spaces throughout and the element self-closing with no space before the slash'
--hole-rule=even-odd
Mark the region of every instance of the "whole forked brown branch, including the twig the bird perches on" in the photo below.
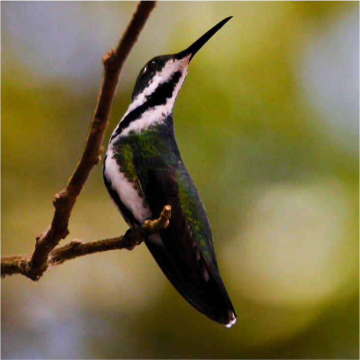
<svg viewBox="0 0 360 360">
<path fill-rule="evenodd" d="M 52 223 L 46 232 L 37 236 L 32 254 L 4 256 L 1 258 L 2 277 L 21 273 L 32 280 L 38 280 L 47 270 L 49 264 L 59 264 L 87 253 L 126 247 L 122 241 L 123 237 L 119 237 L 114 238 L 117 239 L 116 241 L 106 239 L 85 244 L 72 241 L 70 244 L 56 249 L 59 242 L 69 234 L 68 223 L 73 205 L 80 195 L 92 168 L 101 159 L 101 153 L 104 150 L 101 143 L 108 127 L 111 105 L 120 72 L 155 5 L 155 1 L 140 1 L 116 49 L 109 50 L 102 58 L 104 73 L 90 130 L 78 165 L 76 165 L 66 187 L 54 196 L 55 213 Z M 167 212 L 165 213 L 167 214 Z M 165 226 L 166 220 L 162 219 L 167 216 L 165 215 L 161 215 L 160 220 L 157 219 L 155 222 L 159 221 Z M 147 223 L 146 226 L 149 226 L 150 229 L 156 228 L 152 221 Z"/>
</svg>

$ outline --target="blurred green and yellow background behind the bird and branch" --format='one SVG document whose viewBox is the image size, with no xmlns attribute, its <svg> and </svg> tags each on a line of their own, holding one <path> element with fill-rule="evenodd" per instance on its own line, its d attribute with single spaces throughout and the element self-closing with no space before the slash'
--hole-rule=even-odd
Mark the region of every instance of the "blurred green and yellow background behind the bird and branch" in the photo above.
<svg viewBox="0 0 360 360">
<path fill-rule="evenodd" d="M 49 226 L 88 131 L 100 59 L 135 6 L 1 3 L 2 255 L 31 252 Z M 39 282 L 2 279 L 2 358 L 358 358 L 358 12 L 358 2 L 158 3 L 104 145 L 144 63 L 233 15 L 191 62 L 174 122 L 237 323 L 196 312 L 141 245 L 69 261 Z M 126 228 L 97 166 L 66 241 Z"/>
</svg>

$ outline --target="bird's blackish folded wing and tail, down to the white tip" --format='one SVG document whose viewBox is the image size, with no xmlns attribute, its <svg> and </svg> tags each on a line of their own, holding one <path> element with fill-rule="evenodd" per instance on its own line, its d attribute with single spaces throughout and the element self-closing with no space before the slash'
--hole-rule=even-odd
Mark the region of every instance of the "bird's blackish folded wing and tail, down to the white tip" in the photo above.
<svg viewBox="0 0 360 360">
<path fill-rule="evenodd" d="M 162 156 L 144 157 L 136 149 L 133 150 L 133 158 L 153 216 L 158 217 L 165 205 L 171 205 L 169 226 L 146 239 L 148 249 L 171 284 L 192 306 L 212 320 L 229 324 L 236 315 L 217 268 L 212 239 L 209 239 L 212 261 L 208 261 L 201 252 L 179 199 L 176 174 L 182 173 L 191 182 L 181 159 L 175 162 L 181 168 L 175 169 Z M 200 201 L 192 182 L 189 186 L 195 189 L 194 201 Z M 208 232 L 211 236 L 209 225 Z"/>
</svg>

